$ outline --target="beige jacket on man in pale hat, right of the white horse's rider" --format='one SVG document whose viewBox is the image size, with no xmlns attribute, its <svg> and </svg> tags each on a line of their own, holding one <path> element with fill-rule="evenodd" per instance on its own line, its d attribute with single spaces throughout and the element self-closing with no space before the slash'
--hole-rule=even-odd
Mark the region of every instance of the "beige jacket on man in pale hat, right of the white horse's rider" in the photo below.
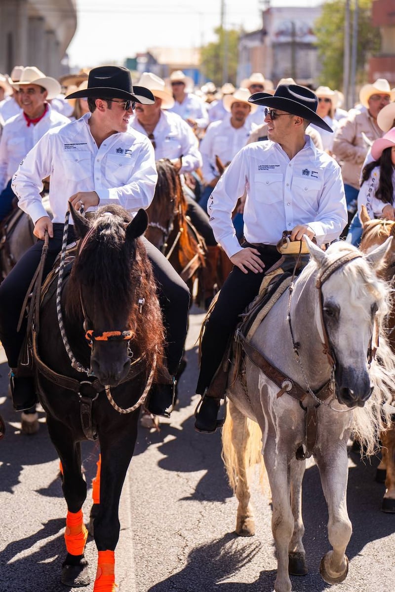
<svg viewBox="0 0 395 592">
<path fill-rule="evenodd" d="M 359 189 L 359 176 L 371 143 L 383 136 L 383 131 L 367 110 L 349 111 L 339 122 L 333 141 L 333 155 L 342 167 L 343 182 Z"/>
</svg>

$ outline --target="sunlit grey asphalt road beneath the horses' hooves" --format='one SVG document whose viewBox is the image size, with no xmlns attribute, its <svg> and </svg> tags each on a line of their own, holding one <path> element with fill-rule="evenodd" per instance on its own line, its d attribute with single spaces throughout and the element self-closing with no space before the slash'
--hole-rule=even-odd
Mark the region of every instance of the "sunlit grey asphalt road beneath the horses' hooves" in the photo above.
<svg viewBox="0 0 395 592">
<path fill-rule="evenodd" d="M 276 560 L 271 508 L 258 483 L 253 487 L 256 535 L 234 533 L 236 500 L 220 458 L 220 434 L 193 429 L 197 404 L 197 338 L 203 314 L 192 309 L 188 366 L 179 385 L 179 408 L 160 432 L 140 428 L 120 506 L 121 536 L 115 552 L 119 592 L 271 592 Z M 4 358 L 2 359 L 4 362 Z M 18 414 L 7 397 L 7 364 L 0 365 L 0 412 L 7 435 L 0 443 L 0 592 L 77 590 L 60 584 L 65 556 L 66 504 L 58 461 L 40 413 L 40 431 L 20 433 Z M 83 446 L 86 481 L 95 474 L 98 448 Z M 395 514 L 380 511 L 384 485 L 374 481 L 377 459 L 363 464 L 351 453 L 348 509 L 354 533 L 347 554 L 348 578 L 335 592 L 392 592 L 395 588 Z M 309 574 L 292 577 L 294 592 L 330 588 L 319 575 L 329 550 L 327 510 L 313 462 L 303 482 L 303 516 Z M 90 508 L 90 489 L 84 514 Z M 96 549 L 86 558 L 95 577 Z M 85 588 L 92 592 L 93 582 Z"/>
</svg>

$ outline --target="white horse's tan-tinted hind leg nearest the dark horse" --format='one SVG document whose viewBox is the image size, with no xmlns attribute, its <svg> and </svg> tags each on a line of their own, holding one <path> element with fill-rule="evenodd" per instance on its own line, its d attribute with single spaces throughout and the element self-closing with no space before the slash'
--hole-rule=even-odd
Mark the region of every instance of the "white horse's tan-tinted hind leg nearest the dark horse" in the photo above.
<svg viewBox="0 0 395 592">
<path fill-rule="evenodd" d="M 228 403 L 230 422 L 223 429 L 223 457 L 227 466 L 230 484 L 235 490 L 239 505 L 237 506 L 236 533 L 240 536 L 252 536 L 255 534 L 255 520 L 250 504 L 251 493 L 248 482 L 248 469 L 246 466 L 246 448 L 249 439 L 247 418 L 233 405 Z M 227 440 L 230 440 L 227 441 Z M 229 444 L 232 449 L 229 449 Z"/>
</svg>

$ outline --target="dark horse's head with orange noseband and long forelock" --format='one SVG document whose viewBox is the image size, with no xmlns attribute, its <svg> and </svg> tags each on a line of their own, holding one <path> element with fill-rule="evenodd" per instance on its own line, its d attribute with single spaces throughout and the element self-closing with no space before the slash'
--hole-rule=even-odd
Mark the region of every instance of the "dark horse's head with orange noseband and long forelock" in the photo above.
<svg viewBox="0 0 395 592">
<path fill-rule="evenodd" d="M 143 337 L 142 325 L 153 323 L 144 331 L 150 334 L 159 327 L 160 334 L 160 320 L 150 318 L 152 275 L 139 242 L 147 214 L 139 210 L 131 218 L 123 208 L 109 205 L 89 219 L 70 209 L 81 240 L 69 279 L 66 319 L 69 326 L 84 328 L 92 373 L 102 384 L 115 386 L 126 378 L 131 356 L 141 355 L 144 348 L 149 356 L 152 345 Z"/>
</svg>

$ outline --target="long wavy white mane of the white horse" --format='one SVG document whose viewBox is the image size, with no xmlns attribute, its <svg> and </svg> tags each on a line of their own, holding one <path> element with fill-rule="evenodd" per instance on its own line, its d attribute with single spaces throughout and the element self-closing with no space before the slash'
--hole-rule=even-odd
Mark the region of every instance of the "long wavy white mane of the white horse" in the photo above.
<svg viewBox="0 0 395 592">
<path fill-rule="evenodd" d="M 374 220 L 374 222 L 377 222 Z M 378 226 L 377 224 L 375 226 Z M 327 263 L 333 263 L 342 255 L 360 251 L 345 241 L 332 243 L 327 251 Z M 362 254 L 362 253 L 361 253 Z M 302 275 L 315 276 L 317 263 L 310 259 Z M 383 403 L 391 401 L 395 392 L 395 355 L 388 343 L 386 323 L 390 313 L 392 288 L 388 282 L 379 278 L 370 263 L 362 256 L 351 264 L 343 265 L 336 273 L 342 274 L 345 282 L 351 287 L 351 298 L 361 305 L 361 314 L 368 314 L 364 307 L 367 292 L 374 295 L 377 305 L 377 322 L 379 343 L 375 358 L 370 366 L 370 378 L 373 385 L 371 397 L 364 407 L 352 411 L 351 429 L 354 436 L 361 442 L 361 449 L 367 455 L 375 452 L 380 432 L 386 431 L 391 425 L 391 415 L 383 410 Z M 305 278 L 306 279 L 306 278 Z"/>
</svg>

